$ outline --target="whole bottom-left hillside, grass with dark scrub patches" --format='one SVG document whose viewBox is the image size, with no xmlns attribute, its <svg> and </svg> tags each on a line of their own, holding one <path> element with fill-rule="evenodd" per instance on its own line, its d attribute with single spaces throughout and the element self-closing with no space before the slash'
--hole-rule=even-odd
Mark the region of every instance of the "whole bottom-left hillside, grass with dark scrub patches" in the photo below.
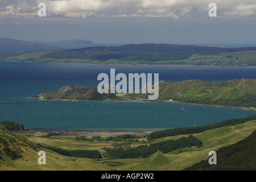
<svg viewBox="0 0 256 182">
<path fill-rule="evenodd" d="M 38 164 L 38 152 L 46 151 L 46 165 Z M 39 148 L 26 137 L 7 131 L 0 125 L 0 171 L 65 171 L 65 170 L 111 170 L 93 159 L 59 155 Z"/>
</svg>

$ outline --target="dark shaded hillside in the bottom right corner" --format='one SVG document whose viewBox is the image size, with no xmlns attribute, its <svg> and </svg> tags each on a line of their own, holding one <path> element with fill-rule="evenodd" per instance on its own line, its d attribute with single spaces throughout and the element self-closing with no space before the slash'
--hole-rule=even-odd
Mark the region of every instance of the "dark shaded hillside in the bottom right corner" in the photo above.
<svg viewBox="0 0 256 182">
<path fill-rule="evenodd" d="M 208 160 L 202 160 L 185 171 L 241 171 L 256 170 L 256 131 L 249 137 L 232 144 L 219 148 L 216 151 L 217 164 L 210 165 Z"/>
</svg>

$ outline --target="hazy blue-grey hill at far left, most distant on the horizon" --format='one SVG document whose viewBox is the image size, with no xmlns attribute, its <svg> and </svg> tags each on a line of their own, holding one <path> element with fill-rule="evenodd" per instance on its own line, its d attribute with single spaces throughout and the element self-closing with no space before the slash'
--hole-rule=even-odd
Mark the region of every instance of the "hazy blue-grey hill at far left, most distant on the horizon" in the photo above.
<svg viewBox="0 0 256 182">
<path fill-rule="evenodd" d="M 63 40 L 57 42 L 33 42 L 15 39 L 0 38 L 1 51 L 34 51 L 38 49 L 52 48 L 84 48 L 92 46 L 89 40 Z"/>
</svg>

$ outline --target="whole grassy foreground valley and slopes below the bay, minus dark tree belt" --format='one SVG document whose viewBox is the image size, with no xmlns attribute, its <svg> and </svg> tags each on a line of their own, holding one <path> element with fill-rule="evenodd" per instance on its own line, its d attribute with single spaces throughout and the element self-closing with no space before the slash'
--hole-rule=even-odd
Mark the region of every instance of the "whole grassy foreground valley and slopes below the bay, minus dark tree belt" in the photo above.
<svg viewBox="0 0 256 182">
<path fill-rule="evenodd" d="M 220 164 L 220 166 L 213 169 L 255 170 L 255 124 L 255 120 L 247 121 L 234 126 L 224 126 L 196 133 L 193 134 L 193 137 L 202 141 L 203 145 L 201 147 L 193 146 L 193 144 L 188 147 L 181 146 L 176 150 L 164 152 L 165 154 L 156 151 L 147 158 L 136 159 L 109 159 L 105 157 L 103 159 L 88 159 L 81 156 L 64 156 L 65 154 L 58 154 L 57 152 L 97 150 L 101 154 L 105 154 L 108 149 L 120 147 L 136 149 L 138 146 L 145 144 L 148 144 L 148 146 L 159 146 L 160 144 L 162 146 L 163 143 L 171 140 L 187 138 L 189 134 L 158 138 L 151 141 L 148 141 L 145 138 L 146 136 L 141 136 L 137 141 L 134 140 L 134 142 L 125 144 L 123 140 L 118 142 L 112 140 L 102 140 L 100 142 L 75 140 L 75 137 L 69 137 L 68 135 L 42 137 L 45 135 L 22 133 L 20 131 L 15 131 L 15 134 L 13 134 L 5 130 L 3 125 L 0 125 L 0 170 L 183 170 L 195 163 L 200 163 L 202 160 L 207 160 L 208 153 L 212 150 L 217 151 L 217 164 Z M 251 135 L 253 132 L 254 134 Z M 57 148 L 61 148 L 61 150 L 58 151 Z M 38 164 L 39 150 L 46 151 L 46 165 Z M 225 168 L 227 166 L 232 168 Z"/>
</svg>

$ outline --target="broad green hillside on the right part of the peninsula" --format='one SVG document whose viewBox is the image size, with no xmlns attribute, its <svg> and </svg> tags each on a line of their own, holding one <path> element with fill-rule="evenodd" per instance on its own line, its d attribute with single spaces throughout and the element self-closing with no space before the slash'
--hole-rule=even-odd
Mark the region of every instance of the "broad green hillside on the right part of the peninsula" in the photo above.
<svg viewBox="0 0 256 182">
<path fill-rule="evenodd" d="M 147 94 L 127 94 L 129 97 L 147 99 Z M 205 82 L 185 80 L 183 82 L 159 82 L 160 101 L 183 102 L 233 107 L 256 107 L 256 80 L 242 79 Z"/>
</svg>

